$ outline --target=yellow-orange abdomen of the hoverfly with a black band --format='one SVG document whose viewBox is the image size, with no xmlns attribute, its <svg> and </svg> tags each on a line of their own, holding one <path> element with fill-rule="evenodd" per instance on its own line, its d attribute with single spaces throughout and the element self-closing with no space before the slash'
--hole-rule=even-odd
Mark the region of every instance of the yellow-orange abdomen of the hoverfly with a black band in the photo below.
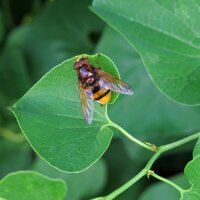
<svg viewBox="0 0 200 200">
<path fill-rule="evenodd" d="M 94 100 L 101 103 L 101 104 L 106 104 L 109 103 L 111 100 L 111 91 L 106 88 L 102 88 L 98 91 L 96 91 L 93 94 Z"/>
</svg>

